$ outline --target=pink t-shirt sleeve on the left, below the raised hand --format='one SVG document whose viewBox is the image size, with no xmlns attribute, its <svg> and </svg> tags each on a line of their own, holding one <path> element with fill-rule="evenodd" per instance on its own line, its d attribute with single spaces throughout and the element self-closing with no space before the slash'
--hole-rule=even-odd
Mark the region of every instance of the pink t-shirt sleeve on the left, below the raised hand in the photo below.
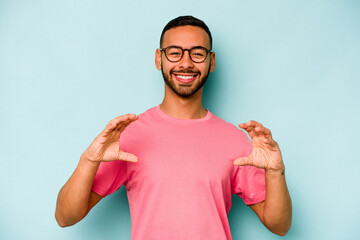
<svg viewBox="0 0 360 240">
<path fill-rule="evenodd" d="M 127 179 L 126 164 L 125 161 L 101 162 L 91 190 L 103 197 L 114 193 Z"/>
</svg>

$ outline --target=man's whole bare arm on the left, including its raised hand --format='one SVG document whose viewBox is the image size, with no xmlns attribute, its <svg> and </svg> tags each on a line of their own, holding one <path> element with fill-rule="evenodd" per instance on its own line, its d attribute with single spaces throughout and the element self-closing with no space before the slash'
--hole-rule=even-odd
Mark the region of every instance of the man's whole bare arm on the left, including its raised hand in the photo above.
<svg viewBox="0 0 360 240">
<path fill-rule="evenodd" d="M 61 227 L 79 222 L 102 199 L 102 196 L 91 191 L 100 162 L 137 161 L 135 155 L 122 151 L 118 144 L 121 132 L 135 120 L 137 116 L 134 114 L 111 120 L 81 155 L 74 173 L 58 195 L 55 218 Z"/>
</svg>

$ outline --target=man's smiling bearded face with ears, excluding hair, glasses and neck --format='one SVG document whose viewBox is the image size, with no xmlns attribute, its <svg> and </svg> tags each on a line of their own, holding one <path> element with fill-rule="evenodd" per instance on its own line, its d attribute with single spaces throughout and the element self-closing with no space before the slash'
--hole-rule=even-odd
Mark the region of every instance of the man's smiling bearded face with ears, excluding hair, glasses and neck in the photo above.
<svg viewBox="0 0 360 240">
<path fill-rule="evenodd" d="M 201 46 L 210 49 L 210 38 L 200 27 L 181 26 L 165 32 L 161 47 L 168 46 L 178 46 L 182 49 Z M 209 72 L 214 70 L 215 53 L 208 53 L 202 63 L 194 63 L 189 57 L 189 51 L 185 51 L 180 61 L 170 62 L 165 53 L 157 49 L 155 64 L 157 69 L 162 71 L 166 91 L 172 91 L 182 98 L 189 98 L 202 90 Z"/>
</svg>

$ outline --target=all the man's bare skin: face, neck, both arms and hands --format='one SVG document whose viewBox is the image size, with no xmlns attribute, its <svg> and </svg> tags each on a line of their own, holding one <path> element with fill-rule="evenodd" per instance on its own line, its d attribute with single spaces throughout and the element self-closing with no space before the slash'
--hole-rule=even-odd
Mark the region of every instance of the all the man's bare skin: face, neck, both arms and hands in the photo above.
<svg viewBox="0 0 360 240">
<path fill-rule="evenodd" d="M 175 45 L 183 49 L 194 46 L 210 49 L 207 33 L 194 26 L 168 30 L 162 44 L 163 48 Z M 214 52 L 202 63 L 192 62 L 188 54 L 186 51 L 179 62 L 172 63 L 160 49 L 155 52 L 156 68 L 162 71 L 166 83 L 160 108 L 169 116 L 179 119 L 197 119 L 206 115 L 207 111 L 202 105 L 202 84 L 208 73 L 215 69 Z M 190 83 L 183 83 L 177 75 L 193 75 L 195 78 Z M 58 195 L 55 218 L 60 226 L 77 223 L 102 199 L 102 196 L 91 191 L 100 162 L 138 161 L 136 156 L 122 151 L 118 145 L 121 133 L 137 119 L 136 115 L 128 114 L 111 120 L 81 155 L 77 168 Z M 256 121 L 239 124 L 239 127 L 252 138 L 253 151 L 248 157 L 234 160 L 234 165 L 252 165 L 265 169 L 266 199 L 250 207 L 270 231 L 285 235 L 291 226 L 292 206 L 279 146 L 273 140 L 270 130 Z"/>
</svg>

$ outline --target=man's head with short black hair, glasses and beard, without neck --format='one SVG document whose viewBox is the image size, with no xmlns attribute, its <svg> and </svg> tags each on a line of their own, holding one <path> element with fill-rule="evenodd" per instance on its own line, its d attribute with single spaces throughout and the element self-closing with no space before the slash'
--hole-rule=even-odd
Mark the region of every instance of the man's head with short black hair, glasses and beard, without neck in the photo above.
<svg viewBox="0 0 360 240">
<path fill-rule="evenodd" d="M 178 61 L 169 60 L 170 46 L 184 49 Z M 191 51 L 190 49 L 195 48 Z M 196 60 L 196 49 L 209 50 L 204 61 Z M 171 20 L 164 28 L 160 38 L 160 49 L 156 50 L 155 64 L 162 71 L 166 90 L 188 98 L 202 90 L 209 72 L 215 68 L 215 53 L 211 52 L 212 38 L 206 24 L 192 16 L 183 16 Z M 180 49 L 180 54 L 181 54 Z M 179 53 L 178 53 L 179 54 Z M 192 60 L 195 59 L 195 62 Z"/>
</svg>

